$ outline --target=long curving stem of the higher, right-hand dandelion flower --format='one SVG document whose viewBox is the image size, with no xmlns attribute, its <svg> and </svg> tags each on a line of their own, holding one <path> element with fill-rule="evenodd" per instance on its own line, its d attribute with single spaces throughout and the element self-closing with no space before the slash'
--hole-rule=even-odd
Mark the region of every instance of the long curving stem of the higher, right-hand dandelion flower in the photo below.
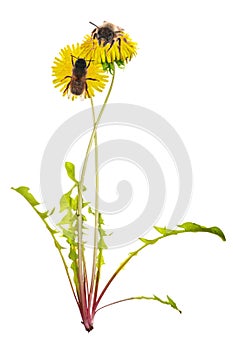
<svg viewBox="0 0 233 350">
<path fill-rule="evenodd" d="M 82 221 L 82 205 L 83 205 L 83 199 L 82 199 L 82 193 L 83 193 L 83 185 L 84 185 L 84 179 L 85 179 L 85 174 L 86 174 L 86 169 L 87 169 L 87 163 L 88 163 L 88 159 L 89 159 L 89 154 L 91 151 L 91 147 L 94 141 L 94 137 L 96 134 L 96 130 L 98 128 L 99 122 L 101 120 L 101 117 L 104 113 L 105 107 L 107 105 L 109 96 L 111 94 L 112 91 L 112 87 L 114 84 L 114 79 L 115 79 L 115 68 L 113 69 L 113 74 L 112 74 L 112 81 L 111 81 L 111 85 L 109 87 L 107 96 L 105 98 L 104 104 L 100 110 L 100 113 L 98 115 L 98 118 L 95 122 L 95 125 L 93 127 L 92 130 L 92 134 L 89 140 L 89 144 L 87 147 L 87 151 L 86 151 L 86 155 L 84 158 L 84 163 L 83 163 L 83 168 L 82 168 L 82 173 L 81 173 L 81 178 L 80 178 L 80 182 L 79 182 L 79 186 L 78 186 L 78 210 L 77 210 L 77 214 L 78 214 L 78 281 L 79 281 L 79 292 L 80 292 L 80 304 L 81 307 L 83 308 L 83 313 L 84 313 L 84 317 L 87 317 L 86 314 L 86 310 L 87 310 L 87 303 L 86 303 L 86 296 L 85 296 L 85 285 L 84 285 L 84 276 L 83 276 L 83 264 L 85 261 L 85 257 L 83 254 L 83 241 L 82 241 L 82 226 L 83 226 L 83 221 Z"/>
</svg>

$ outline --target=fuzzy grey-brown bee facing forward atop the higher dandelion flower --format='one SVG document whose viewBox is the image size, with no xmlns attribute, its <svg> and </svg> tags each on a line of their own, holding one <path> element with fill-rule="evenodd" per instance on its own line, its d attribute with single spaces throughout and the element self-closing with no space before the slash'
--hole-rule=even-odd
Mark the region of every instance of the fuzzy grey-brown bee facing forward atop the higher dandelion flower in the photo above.
<svg viewBox="0 0 233 350">
<path fill-rule="evenodd" d="M 103 43 L 103 46 L 110 44 L 109 49 L 111 49 L 112 45 L 118 41 L 118 44 L 121 44 L 121 36 L 124 32 L 124 29 L 116 26 L 115 24 L 104 21 L 102 26 L 97 26 L 93 22 L 89 22 L 96 28 L 91 33 L 93 39 L 97 39 L 99 45 Z"/>
</svg>

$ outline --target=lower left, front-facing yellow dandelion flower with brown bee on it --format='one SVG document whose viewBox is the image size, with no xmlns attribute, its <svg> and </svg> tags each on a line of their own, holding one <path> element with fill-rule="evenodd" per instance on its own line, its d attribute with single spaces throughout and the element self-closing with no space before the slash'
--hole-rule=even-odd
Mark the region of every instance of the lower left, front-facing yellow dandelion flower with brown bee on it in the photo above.
<svg viewBox="0 0 233 350">
<path fill-rule="evenodd" d="M 63 96 L 78 96 L 90 98 L 96 91 L 103 91 L 108 81 L 101 64 L 87 60 L 81 54 L 80 45 L 67 45 L 60 51 L 60 57 L 55 57 L 52 67 L 54 86 L 60 88 Z"/>
</svg>

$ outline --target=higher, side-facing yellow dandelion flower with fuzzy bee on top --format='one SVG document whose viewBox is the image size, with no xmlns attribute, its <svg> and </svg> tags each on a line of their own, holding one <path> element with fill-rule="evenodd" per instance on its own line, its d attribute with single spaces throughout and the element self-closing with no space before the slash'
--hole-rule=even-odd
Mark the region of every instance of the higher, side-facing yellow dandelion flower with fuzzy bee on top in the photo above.
<svg viewBox="0 0 233 350">
<path fill-rule="evenodd" d="M 122 28 L 108 22 L 99 27 L 90 23 L 96 28 L 91 35 L 85 36 L 81 45 L 86 59 L 102 63 L 104 70 L 111 71 L 112 64 L 123 67 L 137 54 L 137 43 Z"/>
</svg>

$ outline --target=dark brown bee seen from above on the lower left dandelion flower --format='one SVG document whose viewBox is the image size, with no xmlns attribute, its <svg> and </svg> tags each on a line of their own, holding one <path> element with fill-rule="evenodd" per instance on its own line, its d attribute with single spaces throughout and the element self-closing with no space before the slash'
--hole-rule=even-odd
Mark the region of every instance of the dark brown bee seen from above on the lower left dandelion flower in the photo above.
<svg viewBox="0 0 233 350">
<path fill-rule="evenodd" d="M 76 61 L 74 62 L 74 58 Z M 72 60 L 72 75 L 67 75 L 64 79 L 70 78 L 69 83 L 67 84 L 65 90 L 63 91 L 63 95 L 70 89 L 70 92 L 73 95 L 82 95 L 85 94 L 85 92 L 88 94 L 88 86 L 87 86 L 87 80 L 93 80 L 96 81 L 97 79 L 93 78 L 87 78 L 87 70 L 90 66 L 91 60 L 89 61 L 88 65 L 86 61 L 83 58 L 77 58 L 73 55 L 71 55 Z M 63 80 L 64 80 L 63 79 Z"/>
</svg>

